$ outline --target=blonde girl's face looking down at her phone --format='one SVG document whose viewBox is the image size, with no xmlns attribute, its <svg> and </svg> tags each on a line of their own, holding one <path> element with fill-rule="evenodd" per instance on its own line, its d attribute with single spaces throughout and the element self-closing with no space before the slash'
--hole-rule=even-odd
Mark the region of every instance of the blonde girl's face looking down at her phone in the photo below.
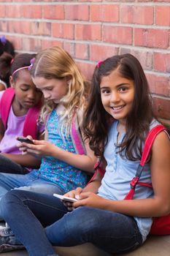
<svg viewBox="0 0 170 256">
<path fill-rule="evenodd" d="M 56 78 L 46 79 L 36 77 L 33 80 L 36 88 L 42 91 L 47 100 L 49 99 L 58 103 L 67 94 L 68 84 L 66 78 L 60 80 Z"/>
</svg>

